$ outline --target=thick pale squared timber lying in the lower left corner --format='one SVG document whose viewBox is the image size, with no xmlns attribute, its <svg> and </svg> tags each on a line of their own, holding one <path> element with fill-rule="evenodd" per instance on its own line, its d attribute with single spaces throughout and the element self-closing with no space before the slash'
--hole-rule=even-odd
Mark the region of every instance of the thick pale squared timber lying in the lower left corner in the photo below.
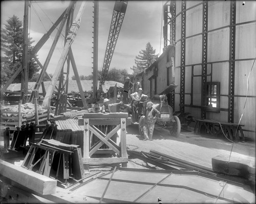
<svg viewBox="0 0 256 204">
<path fill-rule="evenodd" d="M 56 180 L 6 161 L 0 161 L 0 172 L 8 179 L 11 179 L 41 195 L 50 195 L 56 191 Z"/>
</svg>

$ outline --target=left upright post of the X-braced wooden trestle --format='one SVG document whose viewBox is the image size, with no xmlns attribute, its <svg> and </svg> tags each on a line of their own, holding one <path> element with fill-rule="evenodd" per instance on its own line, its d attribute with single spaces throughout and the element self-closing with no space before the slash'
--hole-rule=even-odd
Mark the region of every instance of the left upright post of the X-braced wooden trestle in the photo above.
<svg viewBox="0 0 256 204">
<path fill-rule="evenodd" d="M 89 131 L 89 118 L 83 119 L 83 158 L 89 159 L 90 152 L 90 131 Z M 89 171 L 89 164 L 83 165 L 84 169 Z"/>
</svg>

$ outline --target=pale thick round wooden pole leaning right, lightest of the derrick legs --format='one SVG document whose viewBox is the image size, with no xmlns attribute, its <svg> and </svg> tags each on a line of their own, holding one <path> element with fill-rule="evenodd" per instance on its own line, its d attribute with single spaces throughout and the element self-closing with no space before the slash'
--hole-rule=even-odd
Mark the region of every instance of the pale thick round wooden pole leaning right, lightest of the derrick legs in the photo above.
<svg viewBox="0 0 256 204">
<path fill-rule="evenodd" d="M 81 6 L 80 6 L 80 9 L 78 11 L 78 14 L 76 16 L 76 19 L 72 23 L 69 35 L 67 36 L 67 42 L 66 42 L 66 44 L 65 44 L 65 46 L 63 48 L 63 51 L 61 53 L 61 57 L 60 57 L 60 59 L 58 61 L 57 67 L 56 67 L 55 72 L 53 74 L 52 81 L 51 81 L 51 83 L 49 85 L 49 88 L 47 90 L 45 99 L 44 99 L 44 101 L 42 101 L 42 105 L 43 106 L 48 106 L 48 100 L 49 100 L 49 98 L 53 94 L 53 90 L 54 90 L 54 87 L 55 87 L 55 85 L 57 83 L 60 71 L 61 71 L 61 69 L 62 69 L 62 67 L 63 67 L 63 65 L 64 65 L 64 63 L 66 61 L 66 58 L 68 56 L 70 46 L 74 42 L 77 30 L 79 28 L 79 24 L 80 24 L 80 21 L 81 21 L 81 15 L 82 15 L 82 13 L 84 11 L 85 6 L 86 6 L 86 2 L 83 1 Z"/>
</svg>

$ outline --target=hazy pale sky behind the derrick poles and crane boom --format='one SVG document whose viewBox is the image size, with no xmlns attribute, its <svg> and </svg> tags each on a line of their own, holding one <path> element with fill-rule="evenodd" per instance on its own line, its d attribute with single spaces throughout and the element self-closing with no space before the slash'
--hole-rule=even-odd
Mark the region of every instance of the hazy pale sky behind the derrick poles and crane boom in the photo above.
<svg viewBox="0 0 256 204">
<path fill-rule="evenodd" d="M 78 74 L 85 76 L 93 72 L 93 2 L 86 2 L 80 27 L 71 46 Z M 78 1 L 76 4 L 74 19 L 81 3 L 82 1 Z M 42 0 L 31 2 L 29 8 L 29 36 L 35 41 L 33 45 L 47 33 L 69 4 L 70 1 Z M 115 1 L 99 1 L 98 70 L 101 70 L 103 65 L 114 4 Z M 13 15 L 18 16 L 23 21 L 24 5 L 25 1 L 1 1 L 1 28 L 4 28 L 4 24 L 7 23 L 6 20 Z M 139 55 L 140 50 L 145 49 L 148 42 L 156 49 L 156 54 L 162 53 L 162 6 L 163 1 L 128 1 L 110 69 L 126 69 L 129 74 L 132 74 L 133 70 L 130 67 L 135 65 L 135 57 Z M 62 34 L 64 34 L 64 31 Z M 56 32 L 53 32 L 49 40 L 37 53 L 41 64 L 44 64 L 46 60 L 55 35 Z M 61 36 L 47 68 L 48 73 L 54 73 L 63 46 L 64 38 Z M 74 72 L 71 69 L 70 77 L 73 75 Z"/>
</svg>

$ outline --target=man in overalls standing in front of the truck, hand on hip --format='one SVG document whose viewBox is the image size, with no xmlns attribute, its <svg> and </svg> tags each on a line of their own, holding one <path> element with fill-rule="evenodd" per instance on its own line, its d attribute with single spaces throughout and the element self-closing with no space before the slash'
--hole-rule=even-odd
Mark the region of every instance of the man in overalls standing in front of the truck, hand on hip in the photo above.
<svg viewBox="0 0 256 204">
<path fill-rule="evenodd" d="M 153 140 L 153 132 L 155 128 L 155 122 L 160 115 L 160 112 L 153 108 L 153 103 L 152 101 L 148 101 L 146 104 L 146 109 L 144 112 L 144 125 L 143 125 L 143 134 L 144 134 L 144 140 Z"/>
</svg>

